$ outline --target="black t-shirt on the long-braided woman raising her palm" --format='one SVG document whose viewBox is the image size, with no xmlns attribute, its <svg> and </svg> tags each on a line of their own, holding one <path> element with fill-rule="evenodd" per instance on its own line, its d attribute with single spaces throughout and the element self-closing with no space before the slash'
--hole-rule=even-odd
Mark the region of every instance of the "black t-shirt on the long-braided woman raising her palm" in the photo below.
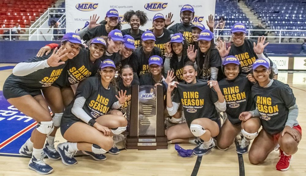
<svg viewBox="0 0 306 176">
<path fill-rule="evenodd" d="M 203 54 L 203 57 L 201 58 L 205 58 L 205 54 L 202 53 L 200 51 L 200 48 L 198 48 L 198 54 L 197 56 L 199 56 L 200 54 Z M 205 80 L 209 80 L 211 75 L 210 75 L 210 68 L 209 71 L 208 71 L 208 75 L 205 74 L 205 72 L 203 71 L 203 64 L 204 64 L 204 59 L 201 59 L 201 58 L 196 58 L 196 63 L 198 65 L 198 77 L 200 79 L 205 79 Z M 218 52 L 218 50 L 216 48 L 212 48 L 211 49 L 211 52 L 210 52 L 210 56 L 209 56 L 209 61 L 210 61 L 210 67 L 216 67 L 218 68 L 218 75 L 217 75 L 217 80 L 221 80 L 224 78 L 224 74 L 222 72 L 222 69 L 221 69 L 221 57 L 220 57 L 220 54 Z"/>
</svg>

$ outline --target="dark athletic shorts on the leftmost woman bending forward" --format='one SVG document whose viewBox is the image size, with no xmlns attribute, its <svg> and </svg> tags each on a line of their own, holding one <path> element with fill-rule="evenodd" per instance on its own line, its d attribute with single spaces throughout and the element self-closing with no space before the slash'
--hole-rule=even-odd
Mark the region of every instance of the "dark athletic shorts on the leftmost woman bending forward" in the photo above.
<svg viewBox="0 0 306 176">
<path fill-rule="evenodd" d="M 5 82 L 3 85 L 3 96 L 5 99 L 22 97 L 24 95 L 41 95 L 41 90 L 29 91 L 16 85 L 16 82 Z"/>
</svg>

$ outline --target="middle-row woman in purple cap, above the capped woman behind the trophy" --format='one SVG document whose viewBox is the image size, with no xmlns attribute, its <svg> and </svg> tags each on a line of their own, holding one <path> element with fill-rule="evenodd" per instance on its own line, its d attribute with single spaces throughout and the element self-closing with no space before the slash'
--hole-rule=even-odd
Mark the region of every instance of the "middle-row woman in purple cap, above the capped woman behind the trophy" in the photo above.
<svg viewBox="0 0 306 176">
<path fill-rule="evenodd" d="M 149 72 L 148 60 L 151 56 L 161 56 L 161 51 L 155 47 L 155 36 L 151 31 L 145 31 L 141 36 L 142 46 L 138 47 L 131 55 L 130 65 L 138 77 Z"/>
</svg>

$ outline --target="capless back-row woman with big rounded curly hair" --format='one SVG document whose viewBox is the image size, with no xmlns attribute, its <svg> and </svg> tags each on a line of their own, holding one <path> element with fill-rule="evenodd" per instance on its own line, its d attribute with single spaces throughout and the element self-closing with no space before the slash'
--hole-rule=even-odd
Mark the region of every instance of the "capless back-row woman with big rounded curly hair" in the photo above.
<svg viewBox="0 0 306 176">
<path fill-rule="evenodd" d="M 131 28 L 121 30 L 122 35 L 131 35 L 135 39 L 135 48 L 138 48 L 141 44 L 141 35 L 144 33 L 139 27 L 144 26 L 148 21 L 146 13 L 130 10 L 123 15 L 123 19 L 131 25 Z"/>
</svg>

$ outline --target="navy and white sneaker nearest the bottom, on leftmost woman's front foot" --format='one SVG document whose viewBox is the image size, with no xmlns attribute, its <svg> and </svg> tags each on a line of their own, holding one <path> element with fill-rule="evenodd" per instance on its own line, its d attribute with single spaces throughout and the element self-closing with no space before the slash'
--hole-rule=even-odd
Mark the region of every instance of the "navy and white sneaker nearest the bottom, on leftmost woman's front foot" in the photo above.
<svg viewBox="0 0 306 176">
<path fill-rule="evenodd" d="M 53 171 L 53 168 L 43 161 L 43 158 L 45 156 L 46 155 L 42 155 L 39 160 L 37 160 L 35 156 L 33 156 L 28 165 L 29 169 L 42 175 L 50 174 Z"/>
</svg>

